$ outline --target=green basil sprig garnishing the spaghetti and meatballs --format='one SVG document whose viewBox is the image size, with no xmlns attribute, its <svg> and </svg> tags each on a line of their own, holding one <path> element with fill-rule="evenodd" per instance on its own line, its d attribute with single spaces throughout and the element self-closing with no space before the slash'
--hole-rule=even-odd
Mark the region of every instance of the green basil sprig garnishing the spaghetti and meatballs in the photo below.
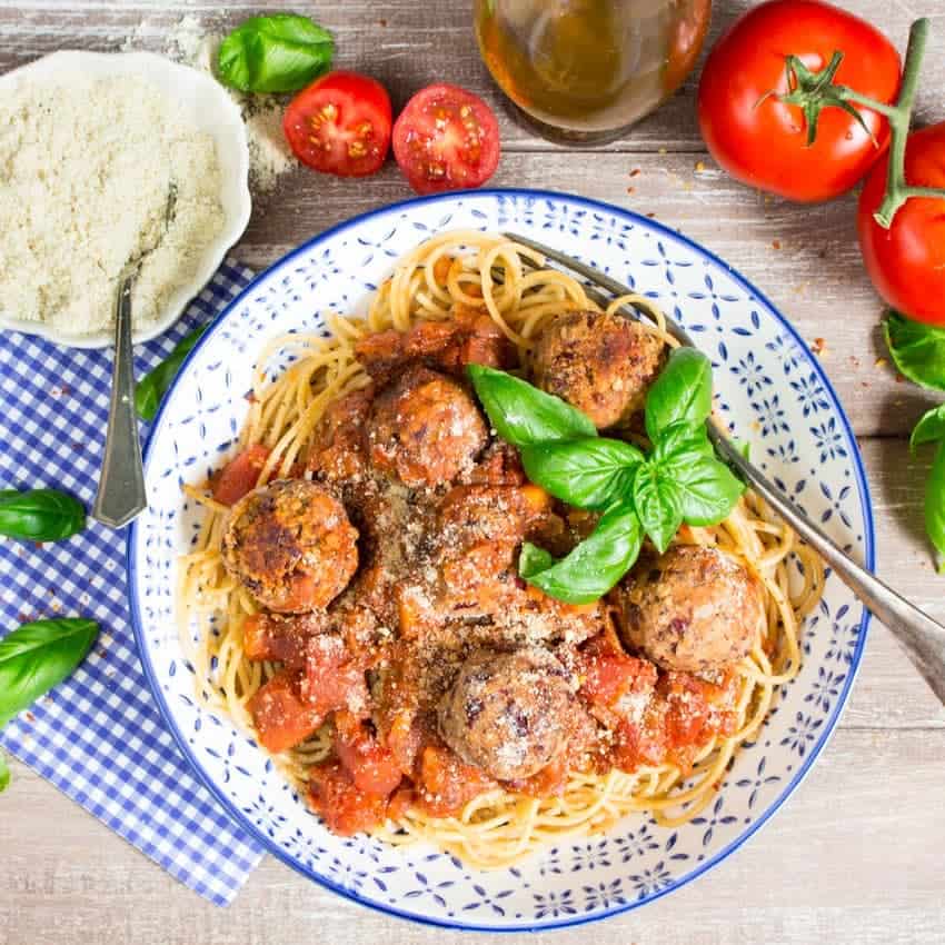
<svg viewBox="0 0 945 945">
<path fill-rule="evenodd" d="M 579 410 L 519 378 L 478 365 L 469 375 L 493 427 L 520 449 L 528 478 L 568 505 L 604 510 L 559 561 L 523 547 L 520 576 L 559 600 L 598 599 L 636 561 L 644 535 L 662 554 L 684 521 L 722 521 L 744 490 L 708 440 L 712 364 L 695 349 L 673 351 L 647 394 L 649 455 L 598 437 Z"/>
</svg>

